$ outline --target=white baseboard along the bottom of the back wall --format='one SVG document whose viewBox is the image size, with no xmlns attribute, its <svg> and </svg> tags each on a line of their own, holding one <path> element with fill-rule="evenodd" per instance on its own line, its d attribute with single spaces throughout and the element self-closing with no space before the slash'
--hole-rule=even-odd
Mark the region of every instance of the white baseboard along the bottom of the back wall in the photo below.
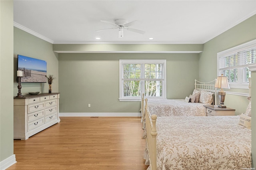
<svg viewBox="0 0 256 170">
<path fill-rule="evenodd" d="M 59 113 L 60 117 L 140 117 L 141 113 Z"/>
</svg>

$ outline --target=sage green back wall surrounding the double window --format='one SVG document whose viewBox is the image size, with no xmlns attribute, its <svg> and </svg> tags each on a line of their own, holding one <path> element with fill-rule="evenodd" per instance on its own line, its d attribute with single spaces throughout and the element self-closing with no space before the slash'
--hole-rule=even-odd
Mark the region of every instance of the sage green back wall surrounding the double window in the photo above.
<svg viewBox="0 0 256 170">
<path fill-rule="evenodd" d="M 118 100 L 119 59 L 166 59 L 168 99 L 185 99 L 198 79 L 198 53 L 61 53 L 60 112 L 138 113 L 140 102 Z"/>
</svg>

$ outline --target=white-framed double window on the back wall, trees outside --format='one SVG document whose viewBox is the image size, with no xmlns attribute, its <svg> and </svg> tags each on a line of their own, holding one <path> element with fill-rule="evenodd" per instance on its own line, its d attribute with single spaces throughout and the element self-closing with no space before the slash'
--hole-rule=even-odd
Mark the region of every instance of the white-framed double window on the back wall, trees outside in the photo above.
<svg viewBox="0 0 256 170">
<path fill-rule="evenodd" d="M 120 101 L 166 98 L 166 60 L 120 60 Z"/>
</svg>

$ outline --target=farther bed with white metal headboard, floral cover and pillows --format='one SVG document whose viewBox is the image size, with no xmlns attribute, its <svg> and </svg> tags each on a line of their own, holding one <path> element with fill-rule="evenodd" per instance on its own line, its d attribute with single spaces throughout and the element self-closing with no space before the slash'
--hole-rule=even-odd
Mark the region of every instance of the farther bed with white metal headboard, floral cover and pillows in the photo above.
<svg viewBox="0 0 256 170">
<path fill-rule="evenodd" d="M 154 113 L 158 117 L 160 116 L 205 116 L 204 105 L 214 105 L 216 103 L 216 93 L 217 90 L 214 87 L 216 79 L 213 81 L 202 83 L 200 81 L 195 80 L 195 88 L 192 96 L 197 96 L 197 102 L 195 102 L 196 98 L 192 101 L 192 97 L 190 99 L 190 95 L 186 97 L 186 99 L 148 99 L 147 108 L 150 113 Z M 202 92 L 202 93 L 201 93 Z M 201 94 L 201 95 L 200 95 Z M 190 102 L 191 101 L 191 102 Z M 141 99 L 141 122 L 142 128 L 145 128 L 145 98 L 144 94 L 142 94 Z"/>
</svg>

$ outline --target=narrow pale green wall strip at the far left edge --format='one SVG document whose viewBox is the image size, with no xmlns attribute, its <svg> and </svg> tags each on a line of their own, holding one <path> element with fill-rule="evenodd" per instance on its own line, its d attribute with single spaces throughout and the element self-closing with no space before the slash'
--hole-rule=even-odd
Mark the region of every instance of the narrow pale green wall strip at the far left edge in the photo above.
<svg viewBox="0 0 256 170">
<path fill-rule="evenodd" d="M 13 2 L 0 0 L 0 162 L 13 155 Z"/>
</svg>

